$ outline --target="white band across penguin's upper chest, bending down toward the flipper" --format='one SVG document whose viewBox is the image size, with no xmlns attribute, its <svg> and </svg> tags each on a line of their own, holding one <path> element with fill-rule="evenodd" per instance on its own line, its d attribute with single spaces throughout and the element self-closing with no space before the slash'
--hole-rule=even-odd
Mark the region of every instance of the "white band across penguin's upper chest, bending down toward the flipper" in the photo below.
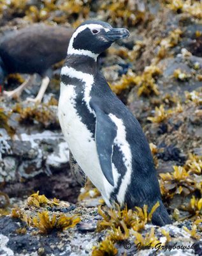
<svg viewBox="0 0 202 256">
<path fill-rule="evenodd" d="M 67 67 L 64 66 L 62 67 L 61 70 L 61 76 L 62 75 L 66 75 L 69 76 L 71 78 L 77 78 L 80 79 L 81 81 L 83 81 L 83 83 L 85 83 L 85 88 L 84 88 L 84 101 L 87 105 L 87 108 L 89 109 L 89 112 L 92 113 L 94 116 L 96 116 L 96 114 L 94 113 L 94 111 L 92 110 L 92 108 L 90 108 L 90 91 L 92 88 L 92 84 L 94 84 L 94 77 L 90 74 L 87 73 L 83 73 L 81 71 L 77 71 L 75 68 L 71 68 L 71 67 Z"/>
</svg>

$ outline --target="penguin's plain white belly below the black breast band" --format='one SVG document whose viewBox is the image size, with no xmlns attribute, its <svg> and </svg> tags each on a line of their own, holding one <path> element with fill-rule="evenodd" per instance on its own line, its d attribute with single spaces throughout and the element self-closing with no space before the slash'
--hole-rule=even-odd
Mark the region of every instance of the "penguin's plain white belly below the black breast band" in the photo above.
<svg viewBox="0 0 202 256">
<path fill-rule="evenodd" d="M 74 87 L 73 85 L 61 83 L 58 114 L 62 132 L 77 163 L 94 186 L 101 191 L 106 204 L 110 205 L 108 199 L 113 186 L 108 183 L 101 170 L 96 142 L 92 133 L 83 124 L 82 118 L 76 111 Z"/>
</svg>

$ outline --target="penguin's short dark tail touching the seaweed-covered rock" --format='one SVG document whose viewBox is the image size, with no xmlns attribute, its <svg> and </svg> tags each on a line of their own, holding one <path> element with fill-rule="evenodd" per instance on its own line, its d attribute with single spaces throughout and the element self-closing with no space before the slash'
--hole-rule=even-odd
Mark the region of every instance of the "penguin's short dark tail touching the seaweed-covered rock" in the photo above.
<svg viewBox="0 0 202 256">
<path fill-rule="evenodd" d="M 171 218 L 161 200 L 159 200 L 159 204 L 159 207 L 152 214 L 152 223 L 160 227 L 171 224 Z"/>
</svg>

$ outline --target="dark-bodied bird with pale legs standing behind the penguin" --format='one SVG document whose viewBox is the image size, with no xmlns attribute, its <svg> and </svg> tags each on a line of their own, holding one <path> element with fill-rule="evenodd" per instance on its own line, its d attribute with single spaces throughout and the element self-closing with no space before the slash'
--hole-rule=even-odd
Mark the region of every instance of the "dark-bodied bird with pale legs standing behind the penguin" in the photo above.
<svg viewBox="0 0 202 256">
<path fill-rule="evenodd" d="M 50 82 L 48 69 L 66 58 L 72 34 L 71 28 L 34 24 L 3 36 L 0 42 L 0 85 L 3 85 L 4 77 L 11 73 L 38 73 L 43 77 L 41 88 L 36 99 L 29 100 L 41 102 Z M 4 95 L 19 97 L 32 80 L 31 76 L 17 89 L 4 91 Z"/>
</svg>

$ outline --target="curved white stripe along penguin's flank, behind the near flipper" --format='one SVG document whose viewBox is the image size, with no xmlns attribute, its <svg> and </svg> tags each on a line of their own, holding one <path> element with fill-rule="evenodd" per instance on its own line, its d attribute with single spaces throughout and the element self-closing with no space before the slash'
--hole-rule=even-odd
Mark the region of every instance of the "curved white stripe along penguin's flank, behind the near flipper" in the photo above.
<svg viewBox="0 0 202 256">
<path fill-rule="evenodd" d="M 132 154 L 129 143 L 126 140 L 126 127 L 124 126 L 121 119 L 117 118 L 117 116 L 112 113 L 109 115 L 111 120 L 117 126 L 117 137 L 115 138 L 114 143 L 120 148 L 123 154 L 123 161 L 126 166 L 126 174 L 122 178 L 122 182 L 120 184 L 119 193 L 117 195 L 117 200 L 120 204 L 124 202 L 124 198 L 126 195 L 126 189 L 131 183 L 131 173 L 132 173 Z"/>
</svg>

